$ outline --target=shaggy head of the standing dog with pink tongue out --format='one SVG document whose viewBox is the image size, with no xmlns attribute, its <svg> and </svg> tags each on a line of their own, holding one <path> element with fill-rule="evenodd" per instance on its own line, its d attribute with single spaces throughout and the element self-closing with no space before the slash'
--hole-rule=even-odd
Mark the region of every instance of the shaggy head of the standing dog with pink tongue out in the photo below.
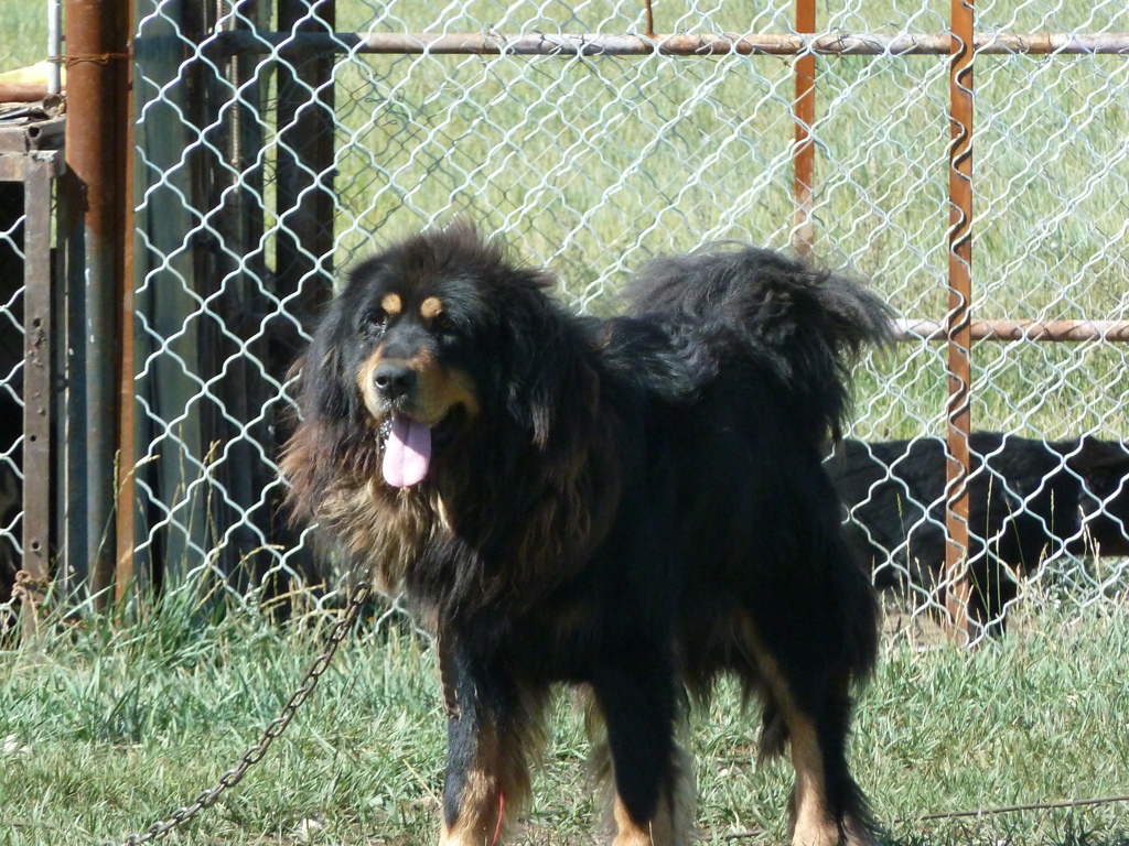
<svg viewBox="0 0 1129 846">
<path fill-rule="evenodd" d="M 335 444 L 378 444 L 394 487 L 427 478 L 474 426 L 524 423 L 543 440 L 567 399 L 544 354 L 560 334 L 551 282 L 465 222 L 361 262 L 301 362 L 304 420 Z"/>
</svg>

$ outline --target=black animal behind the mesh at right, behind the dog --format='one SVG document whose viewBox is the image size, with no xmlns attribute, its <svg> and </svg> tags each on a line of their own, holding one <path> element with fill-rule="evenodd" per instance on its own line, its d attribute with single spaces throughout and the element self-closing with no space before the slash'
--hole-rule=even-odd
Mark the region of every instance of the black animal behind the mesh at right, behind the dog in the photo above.
<svg viewBox="0 0 1129 846">
<path fill-rule="evenodd" d="M 1003 632 L 1019 580 L 1044 558 L 1129 555 L 1129 450 L 1120 441 L 973 432 L 970 450 L 969 614 L 977 625 Z M 926 591 L 942 584 L 944 442 L 843 441 L 828 468 L 875 583 L 905 588 L 908 576 Z"/>
</svg>

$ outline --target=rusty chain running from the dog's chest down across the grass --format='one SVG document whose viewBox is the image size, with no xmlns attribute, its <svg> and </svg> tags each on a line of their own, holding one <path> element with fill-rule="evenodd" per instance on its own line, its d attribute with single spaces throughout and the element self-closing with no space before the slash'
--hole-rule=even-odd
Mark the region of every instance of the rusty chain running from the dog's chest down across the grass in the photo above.
<svg viewBox="0 0 1129 846">
<path fill-rule="evenodd" d="M 154 843 L 167 837 L 174 828 L 181 828 L 186 825 L 202 810 L 213 805 L 225 791 L 234 787 L 243 781 L 247 770 L 263 759 L 263 756 L 266 755 L 266 750 L 270 748 L 271 743 L 274 742 L 274 740 L 282 734 L 283 731 L 286 731 L 290 721 L 294 720 L 294 715 L 297 713 L 298 708 L 301 707 L 301 704 L 309 698 L 314 688 L 317 687 L 318 679 L 329 669 L 330 661 L 333 660 L 333 655 L 336 653 L 338 646 L 341 645 L 341 642 L 348 635 L 350 626 L 352 626 L 353 622 L 357 619 L 361 606 L 364 606 L 368 596 L 369 588 L 365 583 L 360 583 L 353 589 L 349 598 L 349 605 L 345 608 L 344 616 L 336 622 L 333 626 L 333 631 L 330 633 L 330 642 L 326 645 L 325 651 L 314 659 L 314 663 L 310 664 L 306 675 L 303 677 L 301 682 L 290 695 L 286 705 L 283 705 L 279 711 L 279 715 L 271 721 L 270 725 L 266 726 L 262 737 L 259 739 L 259 742 L 244 752 L 239 763 L 220 776 L 215 786 L 201 792 L 192 804 L 173 811 L 166 820 L 152 823 L 145 831 L 145 834 L 132 834 L 126 837 L 124 841 L 125 846 L 138 846 L 142 843 Z"/>
</svg>

